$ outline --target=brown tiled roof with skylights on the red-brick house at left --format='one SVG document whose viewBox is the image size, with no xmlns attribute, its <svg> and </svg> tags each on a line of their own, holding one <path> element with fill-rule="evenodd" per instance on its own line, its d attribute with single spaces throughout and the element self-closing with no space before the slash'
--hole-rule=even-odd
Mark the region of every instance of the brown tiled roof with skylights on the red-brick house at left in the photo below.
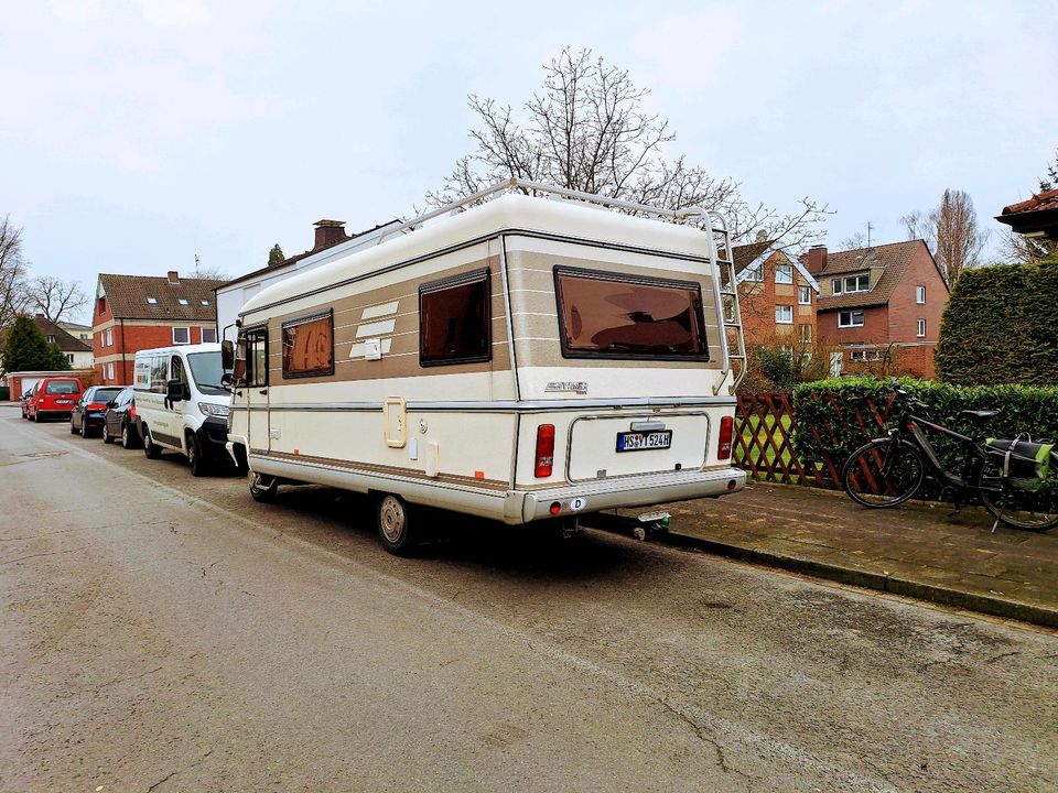
<svg viewBox="0 0 1058 793">
<path fill-rule="evenodd" d="M 158 319 L 160 322 L 216 322 L 213 290 L 224 281 L 188 279 L 170 281 L 161 275 L 99 274 L 99 287 L 110 303 L 116 319 Z M 149 303 L 148 297 L 155 303 Z M 186 301 L 183 305 L 180 301 Z M 206 301 L 207 305 L 202 302 Z"/>
</svg>

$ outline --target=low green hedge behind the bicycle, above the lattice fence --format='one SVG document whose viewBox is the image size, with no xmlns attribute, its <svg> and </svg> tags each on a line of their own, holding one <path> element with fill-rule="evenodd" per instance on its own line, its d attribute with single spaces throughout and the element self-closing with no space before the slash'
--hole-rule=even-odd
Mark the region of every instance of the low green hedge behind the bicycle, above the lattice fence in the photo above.
<svg viewBox="0 0 1058 793">
<path fill-rule="evenodd" d="M 1032 433 L 1034 438 L 1058 438 L 1058 387 L 940 384 L 928 380 L 902 379 L 900 387 L 915 399 L 928 405 L 916 411 L 931 421 L 963 435 L 1010 437 Z M 881 437 L 884 430 L 872 415 L 873 402 L 881 413 L 889 397 L 890 384 L 885 380 L 853 377 L 803 383 L 794 389 L 794 448 L 806 460 L 819 460 L 829 455 L 841 466 L 856 448 L 872 437 Z M 1000 415 L 982 424 L 959 416 L 963 410 L 998 410 Z M 860 411 L 867 428 L 853 416 Z M 886 422 L 892 425 L 893 417 Z M 819 439 L 810 431 L 816 427 Z M 824 428 L 829 427 L 829 432 Z M 946 463 L 959 470 L 963 455 L 961 444 L 940 433 L 928 435 L 930 443 Z M 1058 484 L 1056 484 L 1058 485 Z M 1056 487 L 1058 490 L 1058 487 Z M 940 488 L 930 482 L 924 496 L 938 496 Z"/>
</svg>

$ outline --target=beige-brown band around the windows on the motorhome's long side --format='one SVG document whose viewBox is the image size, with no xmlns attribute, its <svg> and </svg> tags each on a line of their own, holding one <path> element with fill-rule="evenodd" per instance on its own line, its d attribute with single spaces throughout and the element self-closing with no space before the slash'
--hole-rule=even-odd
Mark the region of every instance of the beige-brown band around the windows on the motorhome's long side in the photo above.
<svg viewBox="0 0 1058 793">
<path fill-rule="evenodd" d="M 482 268 L 488 268 L 492 281 L 490 309 L 493 334 L 493 359 L 479 363 L 458 363 L 443 367 L 422 367 L 419 365 L 419 287 L 442 279 L 460 275 Z M 365 284 L 370 281 L 365 281 Z M 509 371 L 511 368 L 507 336 L 506 301 L 500 289 L 499 257 L 488 257 L 445 270 L 433 271 L 419 278 L 408 279 L 375 290 L 360 292 L 333 302 L 322 302 L 296 312 L 271 317 L 268 323 L 269 335 L 269 379 L 273 384 L 314 383 L 345 380 L 375 380 L 382 378 L 406 378 L 423 374 L 462 374 L 467 372 Z M 392 314 L 364 319 L 364 309 L 396 302 Z M 283 323 L 309 316 L 327 308 L 334 312 L 334 374 L 310 378 L 283 378 L 282 376 L 282 333 Z M 370 336 L 357 336 L 361 326 L 393 322 L 390 333 Z M 354 345 L 366 338 L 389 338 L 389 352 L 380 360 L 349 359 Z"/>
</svg>

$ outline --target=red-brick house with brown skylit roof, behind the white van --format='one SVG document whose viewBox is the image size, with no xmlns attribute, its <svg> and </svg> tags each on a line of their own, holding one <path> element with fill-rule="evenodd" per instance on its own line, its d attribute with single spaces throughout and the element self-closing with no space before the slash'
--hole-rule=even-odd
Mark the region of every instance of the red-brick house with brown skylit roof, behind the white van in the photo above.
<svg viewBox="0 0 1058 793">
<path fill-rule="evenodd" d="M 217 340 L 214 289 L 223 281 L 100 273 L 93 347 L 100 383 L 132 382 L 137 350 Z"/>
</svg>

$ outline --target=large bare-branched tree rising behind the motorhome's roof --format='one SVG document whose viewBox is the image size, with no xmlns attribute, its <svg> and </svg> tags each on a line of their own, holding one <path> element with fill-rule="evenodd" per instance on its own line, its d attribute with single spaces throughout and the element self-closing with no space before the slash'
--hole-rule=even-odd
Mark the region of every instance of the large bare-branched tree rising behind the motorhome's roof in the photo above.
<svg viewBox="0 0 1058 793">
<path fill-rule="evenodd" d="M 716 209 L 732 224 L 734 240 L 764 231 L 801 247 L 821 237 L 825 206 L 805 197 L 784 215 L 744 199 L 734 180 L 710 176 L 683 156 L 667 157 L 676 134 L 668 120 L 644 108 L 648 90 L 627 70 L 590 50 L 566 48 L 543 72 L 542 89 L 520 108 L 525 120 L 510 105 L 469 96 L 479 121 L 469 132 L 474 151 L 427 195 L 429 204 L 441 206 L 516 176 L 651 206 Z"/>
</svg>

